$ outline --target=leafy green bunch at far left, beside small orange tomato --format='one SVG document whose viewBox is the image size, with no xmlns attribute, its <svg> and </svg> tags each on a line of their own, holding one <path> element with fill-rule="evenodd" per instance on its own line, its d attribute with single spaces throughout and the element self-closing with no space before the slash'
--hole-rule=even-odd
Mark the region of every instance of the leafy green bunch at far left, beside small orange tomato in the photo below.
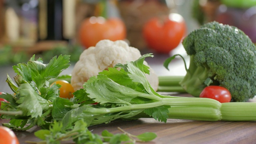
<svg viewBox="0 0 256 144">
<path fill-rule="evenodd" d="M 42 58 L 35 60 L 34 55 L 27 64 L 13 66 L 14 72 L 17 73 L 14 80 L 18 86 L 7 75 L 6 82 L 15 94 L 1 95 L 9 102 L 1 105 L 1 117 L 11 119 L 9 124 L 4 125 L 17 130 L 27 130 L 35 125 L 44 126 L 52 122 L 49 116 L 54 114 L 52 103 L 58 98 L 58 87 L 49 87 L 48 80 L 56 78 L 62 70 L 68 68 L 69 62 L 69 56 L 60 55 L 58 58 L 52 58 L 49 64 L 43 64 Z M 5 111 L 9 111 L 11 115 Z M 15 120 L 21 120 L 20 125 Z M 27 127 L 24 127 L 24 124 Z"/>
</svg>

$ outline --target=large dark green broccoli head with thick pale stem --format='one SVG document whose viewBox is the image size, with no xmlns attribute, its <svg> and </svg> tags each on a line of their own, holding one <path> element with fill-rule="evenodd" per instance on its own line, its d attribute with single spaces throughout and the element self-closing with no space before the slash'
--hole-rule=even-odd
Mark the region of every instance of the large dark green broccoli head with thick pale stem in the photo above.
<svg viewBox="0 0 256 144">
<path fill-rule="evenodd" d="M 256 47 L 244 32 L 209 22 L 188 34 L 182 44 L 190 56 L 187 74 L 180 82 L 186 92 L 198 97 L 212 82 L 227 88 L 234 102 L 256 95 Z"/>
</svg>

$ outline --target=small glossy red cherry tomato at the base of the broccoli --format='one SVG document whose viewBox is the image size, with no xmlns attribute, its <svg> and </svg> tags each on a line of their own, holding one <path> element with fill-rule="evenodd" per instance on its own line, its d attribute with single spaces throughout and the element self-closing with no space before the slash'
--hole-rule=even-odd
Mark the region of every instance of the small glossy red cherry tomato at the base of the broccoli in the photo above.
<svg viewBox="0 0 256 144">
<path fill-rule="evenodd" d="M 230 102 L 231 94 L 230 92 L 222 86 L 207 86 L 201 92 L 200 98 L 212 98 L 218 100 L 219 102 Z"/>
</svg>

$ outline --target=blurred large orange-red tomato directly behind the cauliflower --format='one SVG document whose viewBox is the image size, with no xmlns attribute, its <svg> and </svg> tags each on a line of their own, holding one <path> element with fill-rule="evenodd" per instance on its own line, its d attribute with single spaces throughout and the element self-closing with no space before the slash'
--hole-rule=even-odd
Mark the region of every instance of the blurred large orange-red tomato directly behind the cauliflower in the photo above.
<svg viewBox="0 0 256 144">
<path fill-rule="evenodd" d="M 105 19 L 92 16 L 85 19 L 79 29 L 80 42 L 86 48 L 95 46 L 100 40 L 112 41 L 124 40 L 126 38 L 126 27 L 119 18 Z"/>
</svg>

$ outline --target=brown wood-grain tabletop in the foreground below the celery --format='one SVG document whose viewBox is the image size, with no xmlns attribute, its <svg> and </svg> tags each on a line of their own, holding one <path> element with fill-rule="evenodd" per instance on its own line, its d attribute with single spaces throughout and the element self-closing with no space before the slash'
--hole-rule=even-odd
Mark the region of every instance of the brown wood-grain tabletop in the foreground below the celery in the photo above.
<svg viewBox="0 0 256 144">
<path fill-rule="evenodd" d="M 0 120 L 0 123 L 6 120 Z M 193 120 L 168 119 L 166 123 L 153 118 L 138 120 L 115 120 L 109 124 L 90 126 L 88 129 L 95 134 L 103 130 L 121 133 L 118 127 L 134 135 L 143 132 L 155 132 L 157 138 L 144 144 L 255 144 L 256 122 L 204 122 Z M 15 131 L 20 144 L 26 141 L 40 141 L 34 132 L 40 128 L 34 127 L 29 131 Z M 64 142 L 68 144 L 72 142 Z"/>
</svg>

